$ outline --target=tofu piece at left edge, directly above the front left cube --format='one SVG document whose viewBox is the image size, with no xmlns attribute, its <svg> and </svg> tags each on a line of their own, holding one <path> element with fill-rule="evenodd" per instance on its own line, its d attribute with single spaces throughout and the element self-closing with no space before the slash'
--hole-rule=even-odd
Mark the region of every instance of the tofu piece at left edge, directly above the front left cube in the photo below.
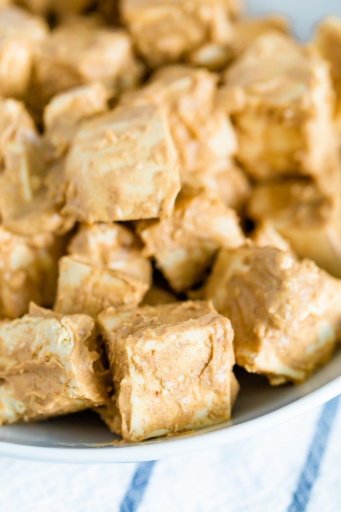
<svg viewBox="0 0 341 512">
<path fill-rule="evenodd" d="M 30 301 L 52 306 L 63 250 L 63 238 L 24 237 L 0 227 L 0 316 L 20 316 Z"/>
</svg>

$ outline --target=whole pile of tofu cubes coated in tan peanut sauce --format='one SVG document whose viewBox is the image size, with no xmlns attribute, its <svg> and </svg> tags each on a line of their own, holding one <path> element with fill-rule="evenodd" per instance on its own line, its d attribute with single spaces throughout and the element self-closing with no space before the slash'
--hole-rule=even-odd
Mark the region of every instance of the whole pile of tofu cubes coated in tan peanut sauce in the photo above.
<svg viewBox="0 0 341 512">
<path fill-rule="evenodd" d="M 341 340 L 341 19 L 0 1 L 0 424 L 228 421 Z"/>
</svg>

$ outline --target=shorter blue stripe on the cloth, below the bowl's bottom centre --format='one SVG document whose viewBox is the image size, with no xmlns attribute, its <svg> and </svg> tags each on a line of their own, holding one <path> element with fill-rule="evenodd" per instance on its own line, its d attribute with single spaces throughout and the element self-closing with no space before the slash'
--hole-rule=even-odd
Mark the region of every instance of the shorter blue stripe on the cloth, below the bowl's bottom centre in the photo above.
<svg viewBox="0 0 341 512">
<path fill-rule="evenodd" d="M 147 488 L 155 460 L 140 462 L 132 477 L 128 490 L 121 502 L 120 512 L 135 512 L 138 509 Z"/>
</svg>

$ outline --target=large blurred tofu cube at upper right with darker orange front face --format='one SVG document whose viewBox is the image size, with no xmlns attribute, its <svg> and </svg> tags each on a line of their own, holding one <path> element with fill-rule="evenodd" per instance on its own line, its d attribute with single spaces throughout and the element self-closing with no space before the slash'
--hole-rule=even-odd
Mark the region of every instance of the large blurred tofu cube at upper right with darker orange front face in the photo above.
<svg viewBox="0 0 341 512">
<path fill-rule="evenodd" d="M 319 55 L 268 32 L 223 79 L 238 136 L 237 157 L 255 180 L 321 176 L 327 162 L 337 161 L 334 93 L 328 65 Z"/>
</svg>

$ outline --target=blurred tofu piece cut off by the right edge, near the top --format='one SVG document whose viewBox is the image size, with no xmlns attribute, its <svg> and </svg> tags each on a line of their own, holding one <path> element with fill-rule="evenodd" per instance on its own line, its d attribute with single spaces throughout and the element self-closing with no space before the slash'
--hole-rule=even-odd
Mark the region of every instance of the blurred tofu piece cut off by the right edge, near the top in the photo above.
<svg viewBox="0 0 341 512">
<path fill-rule="evenodd" d="M 336 92 L 336 123 L 341 132 L 341 18 L 329 16 L 317 28 L 314 46 L 329 62 Z"/>
</svg>

